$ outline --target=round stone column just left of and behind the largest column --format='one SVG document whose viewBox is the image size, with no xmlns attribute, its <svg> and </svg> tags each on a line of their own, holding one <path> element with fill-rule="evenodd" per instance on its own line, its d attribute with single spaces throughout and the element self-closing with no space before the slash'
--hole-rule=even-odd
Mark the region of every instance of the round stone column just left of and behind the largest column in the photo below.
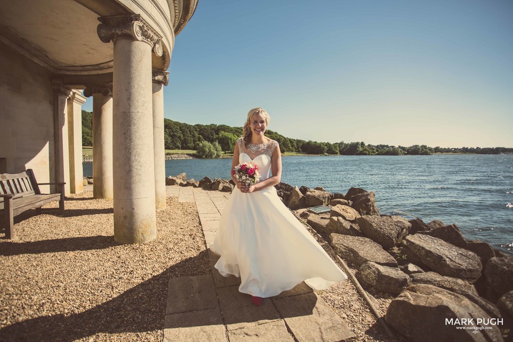
<svg viewBox="0 0 513 342">
<path fill-rule="evenodd" d="M 114 198 L 112 171 L 112 86 L 84 90 L 93 97 L 93 197 Z"/>
</svg>

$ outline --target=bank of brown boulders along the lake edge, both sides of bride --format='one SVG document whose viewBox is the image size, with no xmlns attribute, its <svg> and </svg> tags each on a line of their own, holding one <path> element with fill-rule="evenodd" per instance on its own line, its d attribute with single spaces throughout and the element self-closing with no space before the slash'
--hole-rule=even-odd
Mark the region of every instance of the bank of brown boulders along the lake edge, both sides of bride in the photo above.
<svg viewBox="0 0 513 342">
<path fill-rule="evenodd" d="M 187 179 L 166 185 L 231 192 L 227 179 Z M 362 286 L 394 296 L 386 324 L 408 340 L 502 341 L 513 338 L 513 256 L 464 238 L 456 224 L 382 215 L 374 192 L 346 194 L 322 187 L 275 188 L 282 202 L 356 270 Z M 307 208 L 327 206 L 329 212 Z"/>
</svg>

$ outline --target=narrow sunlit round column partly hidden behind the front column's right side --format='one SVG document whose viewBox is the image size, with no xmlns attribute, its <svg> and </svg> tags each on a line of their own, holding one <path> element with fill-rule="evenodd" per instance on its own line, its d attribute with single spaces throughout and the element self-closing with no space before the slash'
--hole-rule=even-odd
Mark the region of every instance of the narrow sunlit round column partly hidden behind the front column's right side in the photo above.
<svg viewBox="0 0 513 342">
<path fill-rule="evenodd" d="M 166 160 L 164 150 L 164 86 L 168 72 L 152 71 L 153 81 L 153 158 L 155 159 L 155 208 L 166 209 Z"/>
</svg>

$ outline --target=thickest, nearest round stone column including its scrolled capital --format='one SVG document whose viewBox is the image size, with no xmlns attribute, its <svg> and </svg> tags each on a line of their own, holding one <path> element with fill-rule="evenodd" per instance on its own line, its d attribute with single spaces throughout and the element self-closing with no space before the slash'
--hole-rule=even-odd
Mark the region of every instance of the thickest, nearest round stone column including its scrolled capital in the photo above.
<svg viewBox="0 0 513 342">
<path fill-rule="evenodd" d="M 114 43 L 114 240 L 145 243 L 156 235 L 151 51 L 160 36 L 140 15 L 101 17 L 98 36 Z"/>
</svg>

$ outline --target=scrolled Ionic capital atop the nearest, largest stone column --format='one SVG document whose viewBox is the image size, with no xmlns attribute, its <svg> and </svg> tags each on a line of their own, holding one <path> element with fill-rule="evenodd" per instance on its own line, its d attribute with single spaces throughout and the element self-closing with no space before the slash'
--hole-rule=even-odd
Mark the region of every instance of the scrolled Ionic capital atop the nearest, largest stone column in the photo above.
<svg viewBox="0 0 513 342">
<path fill-rule="evenodd" d="M 102 16 L 98 20 L 102 24 L 98 25 L 96 32 L 102 42 L 109 43 L 117 37 L 129 36 L 148 43 L 155 55 L 162 56 L 162 37 L 140 14 Z"/>
</svg>

